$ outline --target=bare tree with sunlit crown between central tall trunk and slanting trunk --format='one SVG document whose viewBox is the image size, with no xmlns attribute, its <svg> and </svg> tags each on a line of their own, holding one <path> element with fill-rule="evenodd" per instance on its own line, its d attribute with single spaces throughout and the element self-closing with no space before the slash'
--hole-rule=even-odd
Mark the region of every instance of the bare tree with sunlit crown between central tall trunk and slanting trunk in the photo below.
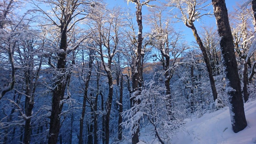
<svg viewBox="0 0 256 144">
<path fill-rule="evenodd" d="M 170 80 L 173 77 L 175 67 L 177 67 L 177 59 L 182 51 L 186 50 L 184 43 L 180 43 L 183 39 L 182 31 L 176 32 L 170 26 L 170 19 L 164 17 L 165 7 L 154 7 L 149 9 L 150 13 L 147 17 L 147 22 L 151 26 L 150 39 L 146 44 L 153 45 L 160 51 L 160 55 L 154 54 L 153 57 L 158 59 L 163 66 L 163 74 L 165 75 L 166 95 L 168 97 L 168 104 L 171 103 L 171 89 Z M 171 105 L 167 105 L 169 116 L 173 118 Z"/>
</svg>

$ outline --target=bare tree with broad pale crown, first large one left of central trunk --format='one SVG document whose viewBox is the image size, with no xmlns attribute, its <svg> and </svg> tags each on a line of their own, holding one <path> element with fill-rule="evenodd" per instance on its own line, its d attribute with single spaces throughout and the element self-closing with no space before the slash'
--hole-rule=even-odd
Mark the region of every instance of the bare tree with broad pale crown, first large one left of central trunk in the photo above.
<svg viewBox="0 0 256 144">
<path fill-rule="evenodd" d="M 105 15 L 104 10 L 95 12 L 93 15 L 94 22 L 91 23 L 91 28 L 96 29 L 94 41 L 97 43 L 98 47 L 92 48 L 97 51 L 99 57 L 101 58 L 103 68 L 105 70 L 105 76 L 108 79 L 109 94 L 106 101 L 106 114 L 105 117 L 105 143 L 109 143 L 109 121 L 110 121 L 110 111 L 113 99 L 113 77 L 111 66 L 113 63 L 113 57 L 116 53 L 122 52 L 118 48 L 119 37 L 122 34 L 121 28 L 123 26 L 122 21 L 122 11 L 120 9 L 113 9 L 112 11 L 107 11 L 109 15 Z M 104 59 L 107 59 L 105 62 Z M 97 72 L 99 73 L 99 72 Z"/>
</svg>

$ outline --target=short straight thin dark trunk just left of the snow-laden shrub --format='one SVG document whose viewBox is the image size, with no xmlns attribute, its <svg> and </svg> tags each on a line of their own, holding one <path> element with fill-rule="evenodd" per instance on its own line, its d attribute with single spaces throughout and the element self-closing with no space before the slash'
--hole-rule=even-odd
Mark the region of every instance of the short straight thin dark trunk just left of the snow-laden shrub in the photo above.
<svg viewBox="0 0 256 144">
<path fill-rule="evenodd" d="M 122 140 L 123 129 L 121 123 L 123 122 L 123 118 L 121 113 L 123 112 L 123 75 L 121 75 L 120 79 L 120 99 L 119 99 L 119 117 L 118 117 L 118 139 Z"/>
</svg>

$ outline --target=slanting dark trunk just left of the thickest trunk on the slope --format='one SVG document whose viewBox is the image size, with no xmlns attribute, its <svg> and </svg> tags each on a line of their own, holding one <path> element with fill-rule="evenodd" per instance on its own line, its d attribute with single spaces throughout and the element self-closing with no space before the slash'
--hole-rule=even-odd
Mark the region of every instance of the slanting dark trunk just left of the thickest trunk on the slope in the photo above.
<svg viewBox="0 0 256 144">
<path fill-rule="evenodd" d="M 197 44 L 199 45 L 199 47 L 200 47 L 200 49 L 203 53 L 203 59 L 205 60 L 205 64 L 206 64 L 206 67 L 207 67 L 207 71 L 208 71 L 208 75 L 209 75 L 209 79 L 210 79 L 210 83 L 211 83 L 211 90 L 212 90 L 212 93 L 213 93 L 213 100 L 215 101 L 218 98 L 218 93 L 217 93 L 217 90 L 216 90 L 216 87 L 215 87 L 215 81 L 214 81 L 214 78 L 213 78 L 213 68 L 211 67 L 211 63 L 210 63 L 206 48 L 203 45 L 202 40 L 201 40 L 201 38 L 199 37 L 199 35 L 197 33 L 197 29 L 195 28 L 194 23 L 189 20 L 189 25 L 186 24 L 186 26 L 189 27 L 193 31 L 195 40 L 197 41 Z"/>
</svg>

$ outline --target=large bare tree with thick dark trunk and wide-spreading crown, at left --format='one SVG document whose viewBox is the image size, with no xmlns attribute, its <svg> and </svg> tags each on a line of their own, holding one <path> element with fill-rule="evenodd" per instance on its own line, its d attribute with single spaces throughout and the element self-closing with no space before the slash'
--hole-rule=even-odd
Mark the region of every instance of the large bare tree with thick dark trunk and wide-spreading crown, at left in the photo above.
<svg viewBox="0 0 256 144">
<path fill-rule="evenodd" d="M 79 43 L 87 38 L 85 36 L 83 39 L 79 40 L 73 47 L 69 46 L 69 41 L 67 39 L 67 34 L 79 21 L 88 18 L 89 7 L 91 1 L 81 1 L 81 0 L 37 0 L 31 1 L 34 7 L 44 15 L 44 18 L 48 21 L 45 25 L 53 26 L 58 32 L 59 46 L 58 51 L 56 51 L 58 56 L 57 66 L 55 67 L 50 59 L 49 64 L 55 71 L 57 76 L 56 82 L 52 88 L 53 98 L 52 98 L 52 109 L 50 116 L 50 129 L 49 129 L 49 140 L 48 143 L 57 143 L 59 129 L 60 129 L 60 116 L 62 111 L 63 103 L 60 104 L 61 99 L 64 98 L 64 92 L 66 89 L 67 81 L 65 77 L 66 71 L 66 56 L 71 51 L 75 50 Z M 49 4 L 51 6 L 50 10 L 44 10 L 41 4 Z M 82 16 L 76 19 L 78 16 Z"/>
</svg>

